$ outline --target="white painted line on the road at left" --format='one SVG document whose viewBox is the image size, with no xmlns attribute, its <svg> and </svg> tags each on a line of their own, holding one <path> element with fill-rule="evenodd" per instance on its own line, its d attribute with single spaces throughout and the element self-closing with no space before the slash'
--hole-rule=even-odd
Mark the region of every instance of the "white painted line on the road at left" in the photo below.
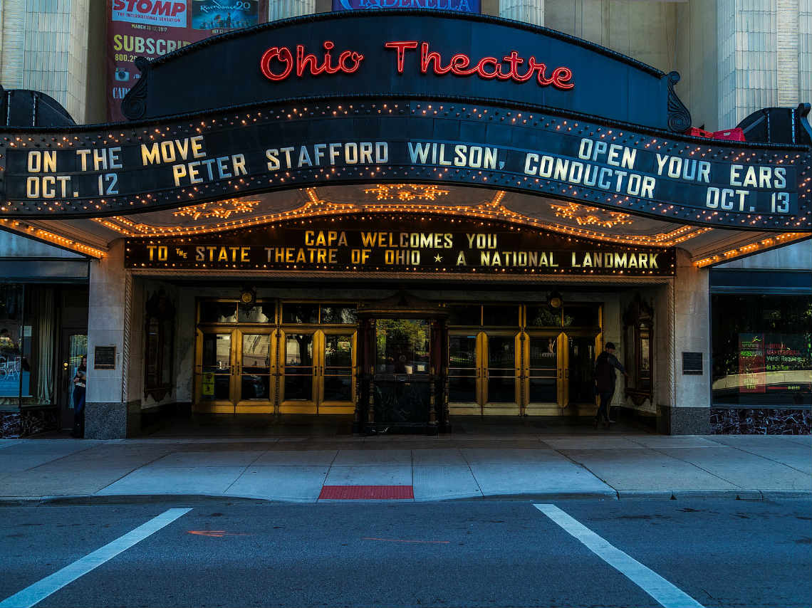
<svg viewBox="0 0 812 608">
<path fill-rule="evenodd" d="M 29 585 L 22 591 L 6 597 L 0 602 L 0 608 L 31 608 L 37 602 L 41 602 L 45 597 L 50 596 L 51 593 L 55 593 L 65 585 L 71 584 L 80 576 L 84 576 L 122 551 L 129 549 L 132 545 L 143 541 L 149 535 L 158 532 L 158 530 L 171 524 L 181 515 L 186 515 L 189 511 L 192 511 L 192 509 L 169 509 L 164 511 L 158 517 L 153 517 L 146 524 L 138 526 L 132 532 L 124 534 L 123 537 L 116 538 L 101 549 L 85 555 L 84 558 L 77 559 L 76 562 L 68 564 L 62 570 L 56 571 L 50 576 L 45 576 L 44 579 Z"/>
</svg>

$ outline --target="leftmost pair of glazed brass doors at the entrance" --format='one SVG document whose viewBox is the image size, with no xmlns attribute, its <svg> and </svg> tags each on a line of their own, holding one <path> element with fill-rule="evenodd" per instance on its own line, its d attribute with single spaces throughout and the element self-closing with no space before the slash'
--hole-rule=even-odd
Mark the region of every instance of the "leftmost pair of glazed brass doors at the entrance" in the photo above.
<svg viewBox="0 0 812 608">
<path fill-rule="evenodd" d="M 195 410 L 273 413 L 274 340 L 264 327 L 198 330 Z"/>
</svg>

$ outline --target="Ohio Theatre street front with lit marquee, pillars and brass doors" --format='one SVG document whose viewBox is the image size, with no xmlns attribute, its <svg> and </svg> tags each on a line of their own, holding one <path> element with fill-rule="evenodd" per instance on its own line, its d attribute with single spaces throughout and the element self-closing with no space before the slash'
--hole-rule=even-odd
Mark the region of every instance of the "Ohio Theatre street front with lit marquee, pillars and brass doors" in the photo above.
<svg viewBox="0 0 812 608">
<path fill-rule="evenodd" d="M 810 432 L 808 104 L 702 136 L 676 72 L 443 11 L 285 19 L 136 65 L 124 123 L 4 94 L 0 228 L 60 252 L 5 266 L 20 407 L 50 377 L 68 420 L 86 349 L 90 438 L 178 411 L 586 420 L 613 342 L 613 405 L 659 432 Z M 84 343 L 42 304 L 83 288 Z"/>
</svg>

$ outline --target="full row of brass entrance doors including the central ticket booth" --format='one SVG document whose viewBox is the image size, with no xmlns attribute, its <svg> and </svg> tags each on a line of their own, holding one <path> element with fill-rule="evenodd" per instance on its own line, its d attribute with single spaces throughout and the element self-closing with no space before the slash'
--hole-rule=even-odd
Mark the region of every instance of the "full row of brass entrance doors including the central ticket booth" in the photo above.
<svg viewBox="0 0 812 608">
<path fill-rule="evenodd" d="M 594 407 L 599 303 L 429 303 L 401 314 L 372 302 L 198 300 L 197 309 L 195 412 L 355 413 L 369 428 Z"/>
</svg>

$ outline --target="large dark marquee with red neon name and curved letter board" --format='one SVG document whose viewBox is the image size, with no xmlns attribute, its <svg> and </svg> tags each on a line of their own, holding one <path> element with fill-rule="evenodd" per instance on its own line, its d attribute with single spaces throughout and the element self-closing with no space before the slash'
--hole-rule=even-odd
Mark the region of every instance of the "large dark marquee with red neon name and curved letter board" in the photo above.
<svg viewBox="0 0 812 608">
<path fill-rule="evenodd" d="M 812 230 L 803 110 L 792 126 L 802 145 L 682 136 L 676 73 L 544 28 L 430 11 L 309 15 L 139 65 L 123 109 L 143 122 L 0 133 L 0 218 L 408 181 Z"/>
</svg>

